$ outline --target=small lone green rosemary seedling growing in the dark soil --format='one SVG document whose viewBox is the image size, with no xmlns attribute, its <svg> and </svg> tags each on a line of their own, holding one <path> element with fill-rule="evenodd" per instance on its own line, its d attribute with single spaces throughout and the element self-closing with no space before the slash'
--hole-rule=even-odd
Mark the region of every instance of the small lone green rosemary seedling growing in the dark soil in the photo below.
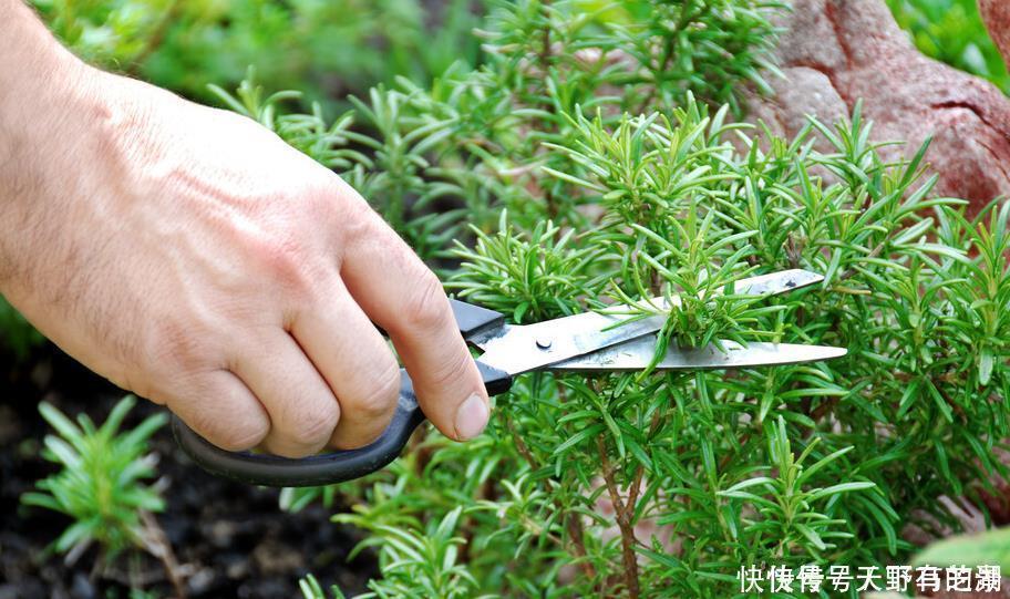
<svg viewBox="0 0 1010 599">
<path fill-rule="evenodd" d="M 154 475 L 147 438 L 166 417 L 156 414 L 120 433 L 134 403 L 133 396 L 121 400 L 101 426 L 85 414 L 74 424 L 51 404 L 39 404 L 39 412 L 58 433 L 47 435 L 42 455 L 61 469 L 38 482 L 39 490 L 23 494 L 21 502 L 73 519 L 55 540 L 55 550 L 74 556 L 97 543 L 112 559 L 143 545 L 141 512 L 164 509 L 158 490 L 142 481 Z"/>
</svg>

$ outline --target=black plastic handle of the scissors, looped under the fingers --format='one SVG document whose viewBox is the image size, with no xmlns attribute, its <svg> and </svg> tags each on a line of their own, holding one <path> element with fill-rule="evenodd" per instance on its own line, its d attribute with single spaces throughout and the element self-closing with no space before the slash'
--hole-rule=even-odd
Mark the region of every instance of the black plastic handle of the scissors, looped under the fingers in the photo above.
<svg viewBox="0 0 1010 599">
<path fill-rule="evenodd" d="M 501 326 L 502 314 L 450 300 L 453 313 L 464 337 L 492 326 Z M 476 361 L 489 394 L 508 391 L 508 373 Z M 410 440 L 411 433 L 424 422 L 424 412 L 414 395 L 414 385 L 406 370 L 400 370 L 400 400 L 389 426 L 371 444 L 358 450 L 337 451 L 302 458 L 228 452 L 214 445 L 189 428 L 178 416 L 172 416 L 172 432 L 178 445 L 194 462 L 210 474 L 270 487 L 307 487 L 342 483 L 360 478 L 385 467 L 395 459 Z"/>
</svg>

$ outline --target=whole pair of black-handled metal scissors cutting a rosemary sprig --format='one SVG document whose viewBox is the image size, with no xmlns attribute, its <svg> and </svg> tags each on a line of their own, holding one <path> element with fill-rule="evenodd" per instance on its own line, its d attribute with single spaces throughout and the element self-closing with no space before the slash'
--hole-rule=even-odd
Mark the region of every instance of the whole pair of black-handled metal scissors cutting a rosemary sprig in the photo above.
<svg viewBox="0 0 1010 599">
<path fill-rule="evenodd" d="M 733 292 L 741 296 L 774 296 L 821 282 L 815 272 L 793 269 L 741 279 Z M 651 300 L 668 304 L 663 298 Z M 795 364 L 845 355 L 843 348 L 791 343 L 732 341 L 697 348 L 670 343 L 656 360 L 657 333 L 664 313 L 629 317 L 608 309 L 583 312 L 534 324 L 508 324 L 504 314 L 458 300 L 450 300 L 463 338 L 483 351 L 475 359 L 488 394 L 508 391 L 513 378 L 525 372 L 620 372 L 655 368 L 713 370 Z M 679 303 L 671 297 L 672 304 Z M 387 430 L 371 444 L 357 450 L 336 451 L 303 458 L 288 458 L 251 452 L 228 452 L 213 445 L 172 419 L 175 438 L 197 465 L 212 474 L 243 483 L 266 486 L 317 486 L 359 478 L 395 459 L 422 422 L 410 375 L 401 369 L 400 399 Z"/>
</svg>

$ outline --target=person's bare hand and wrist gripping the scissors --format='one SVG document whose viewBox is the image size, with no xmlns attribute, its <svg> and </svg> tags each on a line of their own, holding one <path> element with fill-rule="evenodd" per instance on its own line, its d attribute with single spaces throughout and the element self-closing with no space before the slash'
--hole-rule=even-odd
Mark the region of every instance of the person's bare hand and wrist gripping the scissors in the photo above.
<svg viewBox="0 0 1010 599">
<path fill-rule="evenodd" d="M 452 438 L 488 416 L 437 278 L 336 174 L 251 120 L 97 71 L 0 0 L 0 292 L 226 450 L 389 424 L 400 372 Z"/>
</svg>

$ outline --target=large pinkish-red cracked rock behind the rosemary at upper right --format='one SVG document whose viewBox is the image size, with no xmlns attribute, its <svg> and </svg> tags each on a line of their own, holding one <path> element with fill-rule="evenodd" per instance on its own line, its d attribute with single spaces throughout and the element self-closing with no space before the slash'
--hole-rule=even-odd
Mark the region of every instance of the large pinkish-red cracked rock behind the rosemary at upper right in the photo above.
<svg viewBox="0 0 1010 599">
<path fill-rule="evenodd" d="M 1010 21 L 1003 1 L 982 2 Z M 1010 100 L 920 54 L 882 0 L 796 0 L 781 24 L 785 79 L 767 78 L 775 95 L 752 97 L 752 118 L 791 136 L 806 115 L 833 123 L 862 99 L 874 140 L 907 142 L 883 148 L 885 157 L 910 156 L 932 137 L 926 161 L 940 176 L 938 194 L 969 199 L 972 214 L 1010 194 Z"/>
</svg>

